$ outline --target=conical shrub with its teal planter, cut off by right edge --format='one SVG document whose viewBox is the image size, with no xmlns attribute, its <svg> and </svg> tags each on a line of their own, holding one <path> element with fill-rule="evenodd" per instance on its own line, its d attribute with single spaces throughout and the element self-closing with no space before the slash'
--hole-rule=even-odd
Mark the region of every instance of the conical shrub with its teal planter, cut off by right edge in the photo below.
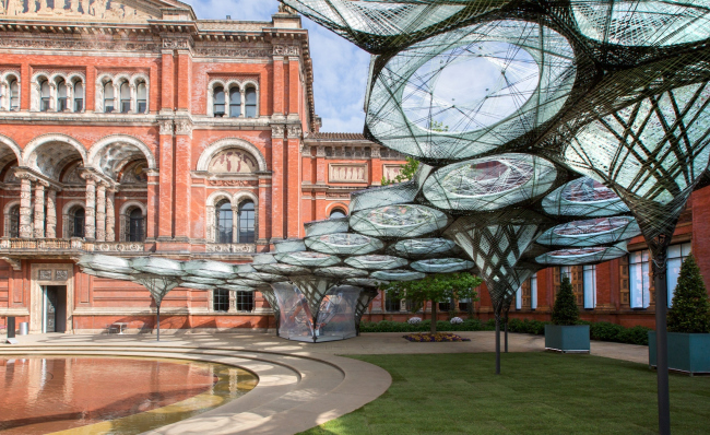
<svg viewBox="0 0 710 435">
<path fill-rule="evenodd" d="M 655 356 L 655 331 L 649 331 L 649 365 Z M 668 310 L 668 368 L 710 373 L 710 298 L 693 256 L 683 262 Z"/>
</svg>

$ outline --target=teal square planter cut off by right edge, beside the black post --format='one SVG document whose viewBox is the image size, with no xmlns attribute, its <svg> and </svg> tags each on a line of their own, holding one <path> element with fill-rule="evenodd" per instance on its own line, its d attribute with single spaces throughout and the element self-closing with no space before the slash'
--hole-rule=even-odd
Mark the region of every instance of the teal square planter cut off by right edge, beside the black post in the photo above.
<svg viewBox="0 0 710 435">
<path fill-rule="evenodd" d="M 655 331 L 649 331 L 649 365 L 655 367 Z M 710 374 L 710 333 L 668 332 L 668 368 Z"/>
</svg>

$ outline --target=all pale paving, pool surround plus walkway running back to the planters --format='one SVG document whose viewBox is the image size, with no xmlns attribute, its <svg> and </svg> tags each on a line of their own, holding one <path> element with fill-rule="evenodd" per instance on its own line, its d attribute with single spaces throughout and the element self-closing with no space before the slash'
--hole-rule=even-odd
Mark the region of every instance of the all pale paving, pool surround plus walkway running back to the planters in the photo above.
<svg viewBox="0 0 710 435">
<path fill-rule="evenodd" d="M 413 343 L 403 333 L 364 333 L 326 343 L 286 341 L 265 333 L 17 337 L 0 345 L 9 354 L 129 355 L 199 360 L 238 365 L 259 376 L 244 398 L 153 434 L 293 434 L 352 412 L 387 391 L 390 375 L 380 367 L 338 355 L 493 352 L 492 331 L 458 332 L 459 343 Z M 4 340 L 3 340 L 4 341 Z M 544 352 L 540 336 L 509 334 L 510 352 Z M 592 354 L 648 364 L 648 348 L 592 342 Z"/>
</svg>

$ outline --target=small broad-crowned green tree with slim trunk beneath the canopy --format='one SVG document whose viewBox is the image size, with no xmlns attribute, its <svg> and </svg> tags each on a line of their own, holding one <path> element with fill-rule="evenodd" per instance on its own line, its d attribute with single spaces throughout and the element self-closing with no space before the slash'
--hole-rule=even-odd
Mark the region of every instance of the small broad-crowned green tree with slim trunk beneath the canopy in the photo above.
<svg viewBox="0 0 710 435">
<path fill-rule="evenodd" d="M 391 282 L 380 287 L 387 295 L 394 299 L 412 301 L 412 311 L 415 313 L 431 302 L 431 333 L 436 333 L 437 305 L 439 302 L 450 299 L 471 298 L 471 302 L 478 301 L 475 287 L 481 285 L 483 280 L 468 272 L 439 273 L 428 275 L 418 281 Z"/>
</svg>

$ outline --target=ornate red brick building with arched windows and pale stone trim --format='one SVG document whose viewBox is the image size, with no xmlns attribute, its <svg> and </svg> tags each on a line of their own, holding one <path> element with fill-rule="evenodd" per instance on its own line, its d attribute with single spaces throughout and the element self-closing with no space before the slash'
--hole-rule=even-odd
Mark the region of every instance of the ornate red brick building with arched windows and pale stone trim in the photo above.
<svg viewBox="0 0 710 435">
<path fill-rule="evenodd" d="M 347 214 L 350 192 L 393 178 L 403 156 L 319 132 L 312 77 L 308 33 L 288 12 L 208 21 L 176 0 L 0 0 L 0 317 L 32 332 L 151 330 L 147 291 L 82 274 L 74 260 L 249 262 L 303 236 L 304 222 Z M 708 277 L 709 200 L 694 195 L 674 239 Z M 642 254 L 547 269 L 517 313 L 547 316 L 570 273 L 581 307 L 593 292 L 585 317 L 651 325 L 647 270 Z M 486 318 L 481 293 L 460 304 Z M 380 296 L 366 320 L 404 319 L 403 308 Z M 259 293 L 177 289 L 162 314 L 167 329 L 273 327 Z"/>
</svg>

